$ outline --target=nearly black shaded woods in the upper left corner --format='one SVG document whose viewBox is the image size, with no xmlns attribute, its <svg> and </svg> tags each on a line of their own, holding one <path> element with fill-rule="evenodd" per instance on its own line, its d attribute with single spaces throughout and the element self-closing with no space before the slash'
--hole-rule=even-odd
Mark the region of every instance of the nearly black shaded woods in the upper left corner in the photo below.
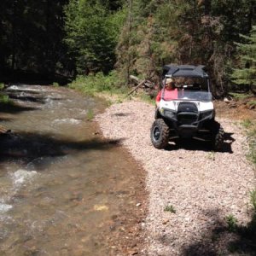
<svg viewBox="0 0 256 256">
<path fill-rule="evenodd" d="M 0 65 L 5 70 L 55 73 L 65 65 L 62 7 L 68 0 L 1 1 Z"/>
</svg>

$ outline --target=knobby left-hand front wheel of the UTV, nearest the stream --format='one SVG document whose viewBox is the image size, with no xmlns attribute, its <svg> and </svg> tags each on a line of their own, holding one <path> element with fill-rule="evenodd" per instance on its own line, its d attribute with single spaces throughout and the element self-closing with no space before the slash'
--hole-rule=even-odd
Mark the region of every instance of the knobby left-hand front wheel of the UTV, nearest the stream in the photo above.
<svg viewBox="0 0 256 256">
<path fill-rule="evenodd" d="M 166 148 L 170 129 L 163 119 L 156 119 L 151 127 L 150 137 L 154 148 Z"/>
</svg>

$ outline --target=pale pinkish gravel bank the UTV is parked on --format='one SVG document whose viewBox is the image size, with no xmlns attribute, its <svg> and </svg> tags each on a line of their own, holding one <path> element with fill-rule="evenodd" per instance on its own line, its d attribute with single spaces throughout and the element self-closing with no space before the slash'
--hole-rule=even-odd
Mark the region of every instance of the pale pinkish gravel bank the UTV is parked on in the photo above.
<svg viewBox="0 0 256 256">
<path fill-rule="evenodd" d="M 255 188 L 253 166 L 245 156 L 247 138 L 239 124 L 218 119 L 225 131 L 224 152 L 213 153 L 203 143 L 154 148 L 149 137 L 154 106 L 145 102 L 113 104 L 96 121 L 103 136 L 119 139 L 147 172 L 148 236 L 141 254 L 228 253 L 235 235 L 223 231 L 215 237 L 216 230 L 230 214 L 238 224 L 250 221 L 249 195 Z M 165 211 L 166 206 L 174 212 Z"/>
</svg>

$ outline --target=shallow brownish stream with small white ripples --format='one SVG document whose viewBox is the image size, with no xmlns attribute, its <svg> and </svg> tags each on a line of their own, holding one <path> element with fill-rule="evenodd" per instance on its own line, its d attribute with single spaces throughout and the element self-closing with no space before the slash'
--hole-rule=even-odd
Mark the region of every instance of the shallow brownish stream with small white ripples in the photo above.
<svg viewBox="0 0 256 256">
<path fill-rule="evenodd" d="M 0 109 L 0 254 L 108 255 L 110 225 L 136 189 L 137 166 L 90 121 L 106 103 L 11 85 Z"/>
</svg>

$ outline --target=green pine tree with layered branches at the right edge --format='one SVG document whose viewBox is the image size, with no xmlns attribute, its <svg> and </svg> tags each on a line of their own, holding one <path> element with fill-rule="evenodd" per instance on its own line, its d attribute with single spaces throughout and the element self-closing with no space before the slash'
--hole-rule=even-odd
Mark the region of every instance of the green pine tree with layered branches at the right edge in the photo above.
<svg viewBox="0 0 256 256">
<path fill-rule="evenodd" d="M 239 68 L 234 69 L 231 79 L 235 84 L 247 85 L 256 94 L 256 26 L 250 36 L 241 35 L 247 43 L 237 43 Z"/>
</svg>

